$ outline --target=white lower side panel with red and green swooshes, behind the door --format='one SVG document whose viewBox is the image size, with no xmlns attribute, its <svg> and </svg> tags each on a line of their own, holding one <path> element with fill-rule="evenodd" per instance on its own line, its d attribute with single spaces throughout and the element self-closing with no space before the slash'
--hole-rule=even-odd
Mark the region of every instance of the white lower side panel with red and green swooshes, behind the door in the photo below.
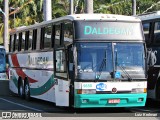
<svg viewBox="0 0 160 120">
<path fill-rule="evenodd" d="M 12 91 L 18 89 L 18 78 L 27 78 L 31 97 L 54 102 L 53 52 L 13 54 L 10 66 L 18 68 L 11 74 Z M 11 68 L 11 69 L 13 69 Z M 14 79 L 15 78 L 15 79 Z"/>
</svg>

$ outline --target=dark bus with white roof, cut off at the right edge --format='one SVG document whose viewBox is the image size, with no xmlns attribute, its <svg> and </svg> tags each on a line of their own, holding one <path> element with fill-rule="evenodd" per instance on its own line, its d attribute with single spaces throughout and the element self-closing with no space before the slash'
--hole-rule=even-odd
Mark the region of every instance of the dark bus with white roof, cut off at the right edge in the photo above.
<svg viewBox="0 0 160 120">
<path fill-rule="evenodd" d="M 138 16 L 142 20 L 147 46 L 148 98 L 160 100 L 160 11 Z"/>
</svg>

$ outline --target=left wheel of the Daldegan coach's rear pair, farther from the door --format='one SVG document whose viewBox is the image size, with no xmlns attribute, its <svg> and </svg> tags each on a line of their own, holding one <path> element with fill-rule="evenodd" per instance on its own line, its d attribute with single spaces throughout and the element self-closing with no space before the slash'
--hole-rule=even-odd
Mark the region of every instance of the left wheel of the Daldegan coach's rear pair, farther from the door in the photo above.
<svg viewBox="0 0 160 120">
<path fill-rule="evenodd" d="M 22 79 L 19 79 L 18 81 L 18 96 L 22 99 L 24 98 L 24 86 Z"/>
</svg>

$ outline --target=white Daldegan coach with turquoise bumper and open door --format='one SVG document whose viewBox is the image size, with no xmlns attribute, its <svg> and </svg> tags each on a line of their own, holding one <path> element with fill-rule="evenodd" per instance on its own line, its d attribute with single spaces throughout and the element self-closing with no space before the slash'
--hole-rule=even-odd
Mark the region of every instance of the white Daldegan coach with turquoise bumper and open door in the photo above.
<svg viewBox="0 0 160 120">
<path fill-rule="evenodd" d="M 146 48 L 141 20 L 74 14 L 14 29 L 10 90 L 73 108 L 144 106 Z"/>
</svg>

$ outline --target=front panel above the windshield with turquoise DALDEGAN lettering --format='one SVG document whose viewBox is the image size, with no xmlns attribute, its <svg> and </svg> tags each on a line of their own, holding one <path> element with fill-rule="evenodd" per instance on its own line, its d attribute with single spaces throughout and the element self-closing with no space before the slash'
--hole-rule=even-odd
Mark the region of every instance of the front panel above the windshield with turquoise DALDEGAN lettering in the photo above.
<svg viewBox="0 0 160 120">
<path fill-rule="evenodd" d="M 143 32 L 138 22 L 76 21 L 75 39 L 143 40 Z"/>
</svg>

